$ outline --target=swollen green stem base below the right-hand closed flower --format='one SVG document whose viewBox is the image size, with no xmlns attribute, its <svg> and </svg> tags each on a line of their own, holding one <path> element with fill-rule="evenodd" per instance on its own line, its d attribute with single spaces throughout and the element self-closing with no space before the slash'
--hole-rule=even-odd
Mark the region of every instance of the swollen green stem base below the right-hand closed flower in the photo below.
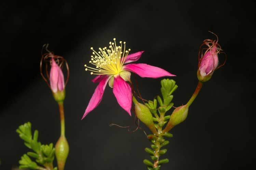
<svg viewBox="0 0 256 170">
<path fill-rule="evenodd" d="M 174 126 L 185 121 L 188 115 L 188 108 L 188 105 L 182 105 L 180 107 L 177 107 L 171 114 L 171 118 L 167 123 L 165 129 L 163 130 L 163 133 L 170 131 Z"/>
</svg>

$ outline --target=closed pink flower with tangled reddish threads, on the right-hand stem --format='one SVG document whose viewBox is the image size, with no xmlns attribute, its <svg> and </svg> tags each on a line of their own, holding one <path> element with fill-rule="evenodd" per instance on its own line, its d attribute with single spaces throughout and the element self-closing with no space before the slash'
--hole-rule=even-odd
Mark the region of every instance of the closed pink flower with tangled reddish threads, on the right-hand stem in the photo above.
<svg viewBox="0 0 256 170">
<path fill-rule="evenodd" d="M 218 54 L 221 48 L 218 40 L 204 40 L 202 45 L 206 45 L 208 48 L 203 48 L 206 49 L 204 54 L 203 51 L 199 53 L 197 77 L 199 81 L 206 82 L 211 79 L 213 72 L 218 67 Z M 202 57 L 200 57 L 200 54 Z"/>
</svg>

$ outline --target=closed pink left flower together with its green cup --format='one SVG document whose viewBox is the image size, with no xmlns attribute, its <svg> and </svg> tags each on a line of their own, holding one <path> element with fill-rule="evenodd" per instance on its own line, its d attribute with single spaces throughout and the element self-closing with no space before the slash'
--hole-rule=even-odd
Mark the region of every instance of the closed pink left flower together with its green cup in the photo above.
<svg viewBox="0 0 256 170">
<path fill-rule="evenodd" d="M 50 86 L 56 101 L 63 101 L 65 99 L 65 82 L 64 75 L 60 67 L 52 58 L 52 66 L 50 71 Z"/>
</svg>

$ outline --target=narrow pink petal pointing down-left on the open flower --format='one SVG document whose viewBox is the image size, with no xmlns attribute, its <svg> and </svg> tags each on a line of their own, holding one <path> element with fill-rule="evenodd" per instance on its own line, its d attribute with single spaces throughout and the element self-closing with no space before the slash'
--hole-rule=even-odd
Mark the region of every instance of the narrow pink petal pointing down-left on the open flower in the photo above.
<svg viewBox="0 0 256 170">
<path fill-rule="evenodd" d="M 84 112 L 82 119 L 99 105 L 100 101 L 102 100 L 103 93 L 104 93 L 104 90 L 105 90 L 108 80 L 109 80 L 109 77 L 105 76 L 104 79 L 99 82 L 98 86 L 94 90 L 92 98 L 89 101 L 89 104 Z"/>
</svg>

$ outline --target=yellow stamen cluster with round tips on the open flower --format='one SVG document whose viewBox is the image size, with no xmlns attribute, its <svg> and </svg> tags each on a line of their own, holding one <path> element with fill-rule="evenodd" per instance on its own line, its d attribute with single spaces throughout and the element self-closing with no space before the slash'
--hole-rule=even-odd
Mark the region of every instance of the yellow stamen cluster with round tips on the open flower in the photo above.
<svg viewBox="0 0 256 170">
<path fill-rule="evenodd" d="M 124 49 L 122 50 L 122 41 L 120 45 L 116 45 L 116 39 L 113 39 L 114 42 L 109 42 L 109 49 L 107 47 L 99 48 L 99 51 L 96 52 L 93 47 L 93 55 L 91 56 L 91 63 L 95 68 L 84 65 L 85 71 L 91 71 L 91 74 L 107 74 L 115 75 L 119 74 L 122 71 L 122 66 L 124 61 L 131 49 L 125 51 L 125 42 L 123 42 Z"/>
</svg>

